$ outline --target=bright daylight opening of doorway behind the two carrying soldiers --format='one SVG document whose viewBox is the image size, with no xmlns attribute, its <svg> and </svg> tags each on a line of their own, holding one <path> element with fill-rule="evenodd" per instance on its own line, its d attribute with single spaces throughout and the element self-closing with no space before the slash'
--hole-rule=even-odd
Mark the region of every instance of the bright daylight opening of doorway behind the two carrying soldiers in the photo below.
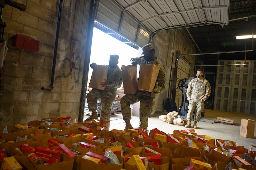
<svg viewBox="0 0 256 170">
<path fill-rule="evenodd" d="M 141 56 L 139 54 L 139 51 L 141 52 L 141 48 L 139 47 L 139 50 L 134 49 L 131 46 L 128 46 L 127 44 L 117 40 L 114 37 L 111 37 L 110 35 L 102 32 L 101 30 L 94 27 L 93 29 L 93 36 L 92 36 L 92 49 L 91 49 L 91 58 L 90 58 L 90 64 L 96 63 L 98 65 L 108 65 L 109 64 L 109 57 L 112 54 L 119 55 L 118 60 L 118 67 L 121 69 L 122 65 L 131 65 L 131 58 L 135 58 L 138 56 Z M 90 79 L 92 76 L 92 68 L 89 68 L 88 73 L 88 83 L 87 83 L 87 92 L 91 90 L 88 85 L 90 83 Z M 120 98 L 124 95 L 123 90 L 123 84 L 117 91 L 117 97 L 113 103 L 111 114 L 115 114 L 117 112 L 120 112 Z M 97 113 L 98 116 L 100 116 L 101 113 L 101 100 L 97 101 Z M 84 108 L 85 117 L 88 118 L 88 116 L 91 115 L 91 111 L 88 109 L 88 103 L 87 99 L 85 100 L 85 108 Z M 121 116 L 122 117 L 122 116 Z M 112 118 L 112 117 L 111 117 Z"/>
</svg>

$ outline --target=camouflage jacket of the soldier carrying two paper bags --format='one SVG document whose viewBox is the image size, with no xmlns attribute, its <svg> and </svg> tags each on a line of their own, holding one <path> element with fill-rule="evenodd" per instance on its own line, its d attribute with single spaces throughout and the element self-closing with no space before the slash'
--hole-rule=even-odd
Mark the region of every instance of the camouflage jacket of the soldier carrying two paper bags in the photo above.
<svg viewBox="0 0 256 170">
<path fill-rule="evenodd" d="M 157 57 L 155 57 L 155 58 L 156 59 L 154 61 L 150 61 L 150 62 L 147 62 L 144 59 L 144 56 L 131 59 L 131 62 L 132 62 L 132 60 L 136 60 L 137 63 L 140 64 L 140 65 L 142 65 L 142 64 L 155 64 L 160 68 L 157 79 L 156 79 L 156 82 L 155 82 L 154 90 L 150 93 L 151 96 L 155 96 L 158 93 L 162 93 L 164 91 L 164 88 L 165 88 L 165 68 L 164 68 L 164 65 L 158 60 L 158 58 Z"/>
</svg>

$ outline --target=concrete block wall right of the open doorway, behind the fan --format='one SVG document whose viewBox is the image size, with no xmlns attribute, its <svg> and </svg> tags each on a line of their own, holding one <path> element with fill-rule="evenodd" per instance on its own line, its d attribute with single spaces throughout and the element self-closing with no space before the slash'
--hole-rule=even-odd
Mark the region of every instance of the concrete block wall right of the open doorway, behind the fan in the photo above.
<svg viewBox="0 0 256 170">
<path fill-rule="evenodd" d="M 195 53 L 195 45 L 189 34 L 186 32 L 186 29 L 177 29 L 177 30 L 166 30 L 156 33 L 153 37 L 153 44 L 155 44 L 155 55 L 159 57 L 161 63 L 165 66 L 166 72 L 166 84 L 165 90 L 161 94 L 157 94 L 155 99 L 155 106 L 152 112 L 155 111 L 164 111 L 164 99 L 168 98 L 168 90 L 169 94 L 172 94 L 172 85 L 173 81 L 181 80 L 183 78 L 182 75 L 193 75 L 191 74 L 190 69 L 178 68 L 178 72 L 184 72 L 183 74 L 177 74 L 177 80 L 173 80 L 173 68 L 175 68 L 175 56 L 176 51 L 180 50 L 181 54 L 194 54 Z M 183 63 L 186 60 L 186 63 L 195 63 L 195 56 L 185 56 L 181 57 L 178 60 L 178 63 Z M 191 77 L 191 76 L 190 76 Z M 178 83 L 177 83 L 178 85 Z M 179 92 L 180 91 L 180 92 Z M 171 97 L 170 97 L 171 98 Z M 176 105 L 177 108 L 181 105 L 181 101 L 178 103 L 178 98 L 182 98 L 182 92 L 180 89 L 176 89 Z"/>
</svg>

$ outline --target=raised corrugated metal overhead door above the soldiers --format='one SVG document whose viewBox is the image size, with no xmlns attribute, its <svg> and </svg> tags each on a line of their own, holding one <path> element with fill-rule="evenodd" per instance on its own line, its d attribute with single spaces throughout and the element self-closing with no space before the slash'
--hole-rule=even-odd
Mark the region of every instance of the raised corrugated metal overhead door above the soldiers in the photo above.
<svg viewBox="0 0 256 170">
<path fill-rule="evenodd" d="M 228 14 L 229 0 L 101 0 L 95 25 L 143 46 L 162 30 L 227 25 Z"/>
</svg>

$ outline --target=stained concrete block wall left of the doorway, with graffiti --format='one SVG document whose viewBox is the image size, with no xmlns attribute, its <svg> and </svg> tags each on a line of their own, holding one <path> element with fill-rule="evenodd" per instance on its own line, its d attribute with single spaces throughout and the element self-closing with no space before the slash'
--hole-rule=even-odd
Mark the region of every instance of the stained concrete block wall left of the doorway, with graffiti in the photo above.
<svg viewBox="0 0 256 170">
<path fill-rule="evenodd" d="M 59 0 L 17 0 L 26 5 L 20 11 L 5 5 L 2 21 L 7 24 L 4 39 L 8 47 L 3 64 L 0 125 L 25 124 L 31 120 L 71 116 L 78 119 L 83 78 L 90 1 L 63 1 L 58 51 L 52 91 L 51 83 Z M 14 36 L 40 41 L 39 52 L 16 48 Z M 71 41 L 78 48 L 71 52 Z M 75 67 L 72 68 L 72 62 Z"/>
</svg>

